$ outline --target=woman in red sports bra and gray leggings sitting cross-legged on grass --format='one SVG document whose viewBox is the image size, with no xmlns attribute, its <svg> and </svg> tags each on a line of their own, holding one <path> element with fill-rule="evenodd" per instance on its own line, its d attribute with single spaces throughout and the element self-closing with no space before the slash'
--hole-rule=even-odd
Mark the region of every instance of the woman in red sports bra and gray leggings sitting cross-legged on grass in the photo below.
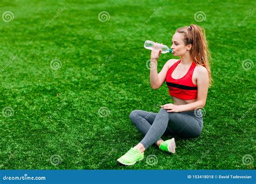
<svg viewBox="0 0 256 184">
<path fill-rule="evenodd" d="M 150 83 L 158 89 L 165 81 L 173 104 L 161 105 L 158 113 L 134 110 L 130 119 L 145 136 L 117 159 L 124 165 L 133 165 L 144 158 L 146 148 L 156 143 L 160 150 L 175 153 L 174 138 L 161 139 L 163 134 L 180 138 L 198 137 L 203 129 L 201 108 L 205 106 L 208 87 L 211 86 L 211 70 L 205 30 L 198 25 L 181 27 L 172 37 L 174 56 L 180 59 L 167 61 L 158 74 L 157 67 L 150 69 Z M 151 51 L 151 66 L 157 66 L 161 51 Z"/>
</svg>

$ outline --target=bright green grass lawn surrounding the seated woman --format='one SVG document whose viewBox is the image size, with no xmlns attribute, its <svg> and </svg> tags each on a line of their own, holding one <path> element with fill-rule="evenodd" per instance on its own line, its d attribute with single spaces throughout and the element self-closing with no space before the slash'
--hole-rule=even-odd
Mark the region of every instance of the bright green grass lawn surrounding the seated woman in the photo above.
<svg viewBox="0 0 256 184">
<path fill-rule="evenodd" d="M 242 157 L 255 159 L 255 67 L 247 71 L 242 61 L 256 60 L 255 12 L 238 23 L 255 6 L 252 1 L 1 2 L 1 15 L 14 14 L 11 22 L 1 19 L 0 27 L 1 108 L 14 110 L 0 116 L 1 169 L 252 169 L 254 163 L 245 165 Z M 109 21 L 98 20 L 102 11 L 109 12 Z M 205 21 L 196 22 L 198 11 Z M 144 159 L 121 166 L 116 159 L 143 138 L 130 112 L 157 112 L 157 104 L 172 103 L 166 84 L 150 87 L 144 41 L 170 46 L 175 30 L 190 24 L 206 30 L 212 53 L 203 133 L 177 139 L 174 155 L 150 147 L 145 156 L 156 155 L 155 165 Z M 171 58 L 162 54 L 158 70 Z M 53 59 L 61 61 L 60 69 L 51 69 Z M 99 116 L 101 107 L 109 116 Z M 62 162 L 52 165 L 52 155 Z"/>
</svg>

